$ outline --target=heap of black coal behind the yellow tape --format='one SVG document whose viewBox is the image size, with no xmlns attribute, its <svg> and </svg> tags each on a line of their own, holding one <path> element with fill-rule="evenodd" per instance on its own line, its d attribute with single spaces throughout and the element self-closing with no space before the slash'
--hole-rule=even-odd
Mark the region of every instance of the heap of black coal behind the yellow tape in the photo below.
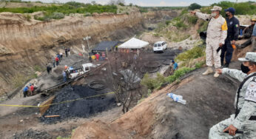
<svg viewBox="0 0 256 139">
<path fill-rule="evenodd" d="M 95 89 L 90 89 L 89 87 L 83 86 L 64 87 L 55 96 L 53 104 L 78 98 L 85 99 L 52 105 L 41 117 L 41 121 L 44 123 L 56 123 L 57 121 L 62 121 L 68 118 L 88 118 L 98 112 L 112 109 L 116 106 L 114 94 L 86 98 L 104 93 L 107 93 L 106 89 L 95 91 Z M 60 115 L 60 117 L 44 118 L 45 115 Z"/>
</svg>

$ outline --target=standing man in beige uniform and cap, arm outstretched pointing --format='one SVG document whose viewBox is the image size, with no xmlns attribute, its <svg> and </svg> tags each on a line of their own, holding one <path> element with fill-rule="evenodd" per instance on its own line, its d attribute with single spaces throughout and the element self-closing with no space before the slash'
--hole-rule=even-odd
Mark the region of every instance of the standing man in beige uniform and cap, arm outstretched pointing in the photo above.
<svg viewBox="0 0 256 139">
<path fill-rule="evenodd" d="M 212 14 L 203 14 L 199 12 L 192 11 L 191 14 L 202 18 L 203 20 L 209 21 L 207 27 L 206 36 L 206 65 L 208 66 L 206 72 L 203 75 L 209 75 L 213 72 L 212 66 L 213 62 L 215 64 L 215 69 L 221 67 L 220 64 L 220 52 L 217 52 L 218 47 L 222 47 L 225 44 L 226 34 L 228 27 L 226 25 L 226 20 L 220 15 L 221 7 L 214 6 L 212 8 Z M 213 57 L 213 59 L 212 59 Z M 218 72 L 215 71 L 214 77 L 219 76 Z"/>
</svg>

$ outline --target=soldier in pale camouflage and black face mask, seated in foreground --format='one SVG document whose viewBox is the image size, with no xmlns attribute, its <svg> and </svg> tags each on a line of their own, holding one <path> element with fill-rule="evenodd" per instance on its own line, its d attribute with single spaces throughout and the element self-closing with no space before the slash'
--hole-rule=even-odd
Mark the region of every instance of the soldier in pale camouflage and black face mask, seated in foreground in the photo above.
<svg viewBox="0 0 256 139">
<path fill-rule="evenodd" d="M 256 52 L 247 52 L 241 70 L 217 69 L 219 74 L 229 75 L 241 81 L 235 96 L 235 114 L 212 126 L 209 139 L 256 137 Z M 243 133 L 236 133 L 239 130 Z M 228 133 L 226 133 L 228 132 Z"/>
</svg>

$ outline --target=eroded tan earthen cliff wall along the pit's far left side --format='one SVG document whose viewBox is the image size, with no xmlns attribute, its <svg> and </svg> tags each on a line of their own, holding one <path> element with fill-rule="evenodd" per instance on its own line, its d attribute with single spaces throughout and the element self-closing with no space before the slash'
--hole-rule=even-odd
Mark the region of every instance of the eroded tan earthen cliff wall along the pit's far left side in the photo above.
<svg viewBox="0 0 256 139">
<path fill-rule="evenodd" d="M 166 15 L 175 17 L 178 11 L 73 15 L 54 21 L 27 21 L 22 14 L 0 13 L 0 95 L 16 89 L 35 73 L 36 65 L 45 67 L 50 57 L 64 47 L 81 52 L 81 44 L 87 45 L 82 38 L 87 35 L 91 36 L 91 45 L 129 38 L 143 30 L 144 21 Z"/>
</svg>

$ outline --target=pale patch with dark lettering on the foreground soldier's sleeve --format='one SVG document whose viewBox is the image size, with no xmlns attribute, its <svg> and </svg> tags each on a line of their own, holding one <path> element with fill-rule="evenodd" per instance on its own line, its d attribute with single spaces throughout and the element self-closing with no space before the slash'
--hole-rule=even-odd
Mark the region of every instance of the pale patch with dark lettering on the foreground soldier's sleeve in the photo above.
<svg viewBox="0 0 256 139">
<path fill-rule="evenodd" d="M 246 95 L 244 97 L 246 101 L 256 102 L 256 82 L 251 81 L 246 89 Z"/>
</svg>

